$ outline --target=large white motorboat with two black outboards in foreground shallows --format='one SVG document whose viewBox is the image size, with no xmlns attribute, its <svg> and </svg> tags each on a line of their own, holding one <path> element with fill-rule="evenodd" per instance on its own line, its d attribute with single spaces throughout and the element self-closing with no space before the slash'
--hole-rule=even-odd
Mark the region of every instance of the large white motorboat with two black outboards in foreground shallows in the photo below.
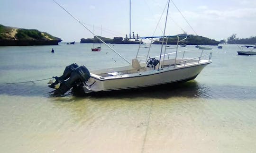
<svg viewBox="0 0 256 153">
<path fill-rule="evenodd" d="M 81 24 L 81 22 L 79 23 Z M 168 38 L 170 37 L 177 38 L 177 45 L 174 47 L 167 47 Z M 98 38 L 122 59 L 127 61 L 128 65 L 89 71 L 85 66 L 78 66 L 73 63 L 65 68 L 63 76 L 55 76 L 55 82 L 54 80 L 51 81 L 49 86 L 55 88 L 55 94 L 63 94 L 70 90 L 70 88 L 82 89 L 84 93 L 91 93 L 134 89 L 192 80 L 200 74 L 205 66 L 212 62 L 212 50 L 178 51 L 179 42 L 186 38 L 187 35 L 166 36 L 165 32 L 163 36 L 137 36 L 136 39 L 140 39 L 141 43 L 136 57 L 131 62 Z M 153 50 L 152 43 L 150 43 L 145 56 L 138 56 L 144 39 L 149 39 L 151 42 L 160 41 L 162 43 L 162 45 L 155 45 L 158 46 L 157 56 L 150 56 L 150 51 Z M 156 52 L 155 46 L 153 54 Z"/>
</svg>

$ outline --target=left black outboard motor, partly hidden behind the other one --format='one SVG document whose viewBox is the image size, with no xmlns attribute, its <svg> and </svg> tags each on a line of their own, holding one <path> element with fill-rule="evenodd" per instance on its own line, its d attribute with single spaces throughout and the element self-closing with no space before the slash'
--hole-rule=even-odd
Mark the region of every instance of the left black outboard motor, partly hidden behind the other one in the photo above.
<svg viewBox="0 0 256 153">
<path fill-rule="evenodd" d="M 55 83 L 48 85 L 50 88 L 55 88 L 55 85 L 57 85 L 58 83 L 62 83 L 64 82 L 66 79 L 68 79 L 71 75 L 71 73 L 73 72 L 73 70 L 75 68 L 78 68 L 79 66 L 76 63 L 70 64 L 69 66 L 66 66 L 63 75 L 60 77 L 55 76 Z"/>
</svg>

